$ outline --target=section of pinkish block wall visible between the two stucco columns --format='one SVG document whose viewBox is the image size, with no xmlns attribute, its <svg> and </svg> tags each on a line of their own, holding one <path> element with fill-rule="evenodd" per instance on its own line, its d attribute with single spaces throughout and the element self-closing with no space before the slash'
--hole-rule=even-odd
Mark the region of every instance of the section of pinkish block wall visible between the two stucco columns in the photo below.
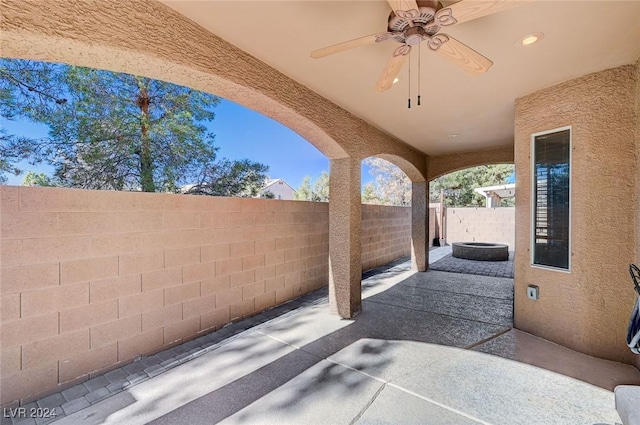
<svg viewBox="0 0 640 425">
<path fill-rule="evenodd" d="M 411 207 L 362 205 L 362 270 L 411 255 Z"/>
</svg>

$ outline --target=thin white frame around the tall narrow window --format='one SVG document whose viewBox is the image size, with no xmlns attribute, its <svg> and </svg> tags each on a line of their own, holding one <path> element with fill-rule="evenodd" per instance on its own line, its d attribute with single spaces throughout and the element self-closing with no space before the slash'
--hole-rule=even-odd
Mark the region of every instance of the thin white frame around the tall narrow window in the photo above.
<svg viewBox="0 0 640 425">
<path fill-rule="evenodd" d="M 545 136 L 547 134 L 559 133 L 561 131 L 569 130 L 569 237 L 568 237 L 568 258 L 567 258 L 567 268 L 548 266 L 545 264 L 536 264 L 535 263 L 535 249 L 536 249 L 536 137 Z M 573 188 L 572 182 L 573 178 L 571 175 L 573 174 L 573 128 L 571 125 L 567 125 L 564 127 L 554 128 L 552 130 L 540 131 L 538 133 L 533 133 L 530 138 L 530 170 L 531 170 L 531 205 L 530 205 L 530 224 L 531 224 L 531 233 L 530 233 L 530 244 L 529 250 L 531 252 L 530 255 L 530 267 L 556 271 L 561 273 L 571 273 L 571 252 L 572 252 L 572 239 L 573 239 L 573 225 L 572 225 L 572 205 L 573 205 Z"/>
</svg>

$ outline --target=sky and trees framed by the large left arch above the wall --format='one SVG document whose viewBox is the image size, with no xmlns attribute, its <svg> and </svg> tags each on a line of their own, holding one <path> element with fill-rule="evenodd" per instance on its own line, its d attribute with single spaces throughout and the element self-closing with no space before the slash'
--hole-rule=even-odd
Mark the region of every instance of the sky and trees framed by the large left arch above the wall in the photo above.
<svg viewBox="0 0 640 425">
<path fill-rule="evenodd" d="M 299 134 L 218 96 L 65 64 L 0 67 L 9 185 L 292 200 L 303 175 L 328 169 Z"/>
</svg>

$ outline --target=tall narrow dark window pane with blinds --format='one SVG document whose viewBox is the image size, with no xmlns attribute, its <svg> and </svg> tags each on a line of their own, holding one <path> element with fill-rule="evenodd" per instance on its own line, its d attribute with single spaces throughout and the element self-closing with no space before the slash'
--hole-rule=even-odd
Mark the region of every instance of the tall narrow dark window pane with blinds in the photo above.
<svg viewBox="0 0 640 425">
<path fill-rule="evenodd" d="M 569 270 L 571 129 L 534 134 L 534 265 Z"/>
</svg>

